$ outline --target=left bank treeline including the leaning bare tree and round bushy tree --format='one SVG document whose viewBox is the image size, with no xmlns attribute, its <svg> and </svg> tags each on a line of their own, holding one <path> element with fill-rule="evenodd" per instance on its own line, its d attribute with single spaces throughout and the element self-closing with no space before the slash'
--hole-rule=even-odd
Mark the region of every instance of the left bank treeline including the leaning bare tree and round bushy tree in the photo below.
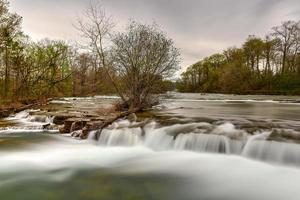
<svg viewBox="0 0 300 200">
<path fill-rule="evenodd" d="M 22 32 L 21 25 L 22 17 L 11 13 L 9 3 L 0 0 L 0 104 L 96 94 L 119 94 L 128 100 L 134 95 L 148 98 L 152 92 L 172 87 L 164 76 L 177 67 L 179 54 L 175 50 L 171 54 L 173 42 L 155 27 L 131 22 L 127 35 L 112 36 L 114 24 L 98 5 L 90 5 L 78 20 L 85 44 L 49 39 L 35 42 Z M 141 50 L 145 45 L 147 51 Z M 164 60 L 156 62 L 154 56 Z M 164 71 L 159 71 L 163 67 Z M 151 89 L 140 86 L 146 81 Z"/>
</svg>

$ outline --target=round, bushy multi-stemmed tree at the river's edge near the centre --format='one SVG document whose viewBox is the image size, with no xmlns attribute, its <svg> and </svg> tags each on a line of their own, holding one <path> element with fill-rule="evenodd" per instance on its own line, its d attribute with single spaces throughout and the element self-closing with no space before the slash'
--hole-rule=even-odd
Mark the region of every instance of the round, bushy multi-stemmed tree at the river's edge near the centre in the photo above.
<svg viewBox="0 0 300 200">
<path fill-rule="evenodd" d="M 179 50 L 155 25 L 132 21 L 113 38 L 111 58 L 121 77 L 130 108 L 151 104 L 151 94 L 178 69 Z"/>
</svg>

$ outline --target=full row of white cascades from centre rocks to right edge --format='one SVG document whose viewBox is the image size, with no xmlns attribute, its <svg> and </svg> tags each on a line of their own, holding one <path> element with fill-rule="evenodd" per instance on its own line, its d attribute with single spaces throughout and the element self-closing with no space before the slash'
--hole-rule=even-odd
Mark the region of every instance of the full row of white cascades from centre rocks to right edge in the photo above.
<svg viewBox="0 0 300 200">
<path fill-rule="evenodd" d="M 127 127 L 124 127 L 127 125 Z M 142 128 L 130 128 L 128 121 L 115 123 L 102 131 L 101 146 L 143 145 L 153 150 L 186 150 L 235 154 L 277 164 L 300 166 L 300 145 L 268 141 L 271 132 L 247 135 L 233 124 L 176 124 L 159 127 L 155 122 Z M 90 138 L 94 138 L 91 133 Z"/>
</svg>

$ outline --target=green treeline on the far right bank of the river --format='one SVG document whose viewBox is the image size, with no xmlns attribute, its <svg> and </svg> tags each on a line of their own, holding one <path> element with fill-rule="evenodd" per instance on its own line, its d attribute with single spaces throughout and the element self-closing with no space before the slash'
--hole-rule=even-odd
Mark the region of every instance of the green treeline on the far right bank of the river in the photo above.
<svg viewBox="0 0 300 200">
<path fill-rule="evenodd" d="M 181 92 L 300 95 L 300 21 L 286 21 L 265 38 L 249 36 L 188 67 Z"/>
</svg>

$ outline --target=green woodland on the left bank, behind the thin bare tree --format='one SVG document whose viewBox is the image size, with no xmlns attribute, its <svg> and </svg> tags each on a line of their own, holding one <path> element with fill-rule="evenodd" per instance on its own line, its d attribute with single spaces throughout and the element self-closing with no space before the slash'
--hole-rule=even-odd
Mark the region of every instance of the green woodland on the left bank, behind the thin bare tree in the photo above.
<svg viewBox="0 0 300 200">
<path fill-rule="evenodd" d="M 0 103 L 113 93 L 97 55 L 64 41 L 34 42 L 0 1 Z"/>
</svg>

